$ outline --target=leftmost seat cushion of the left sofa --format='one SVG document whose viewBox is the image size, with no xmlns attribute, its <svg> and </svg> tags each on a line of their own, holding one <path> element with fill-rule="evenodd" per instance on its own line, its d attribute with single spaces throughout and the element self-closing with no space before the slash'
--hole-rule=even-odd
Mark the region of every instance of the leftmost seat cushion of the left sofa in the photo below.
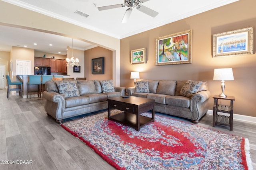
<svg viewBox="0 0 256 170">
<path fill-rule="evenodd" d="M 89 97 L 79 96 L 65 99 L 66 108 L 89 104 Z"/>
</svg>

